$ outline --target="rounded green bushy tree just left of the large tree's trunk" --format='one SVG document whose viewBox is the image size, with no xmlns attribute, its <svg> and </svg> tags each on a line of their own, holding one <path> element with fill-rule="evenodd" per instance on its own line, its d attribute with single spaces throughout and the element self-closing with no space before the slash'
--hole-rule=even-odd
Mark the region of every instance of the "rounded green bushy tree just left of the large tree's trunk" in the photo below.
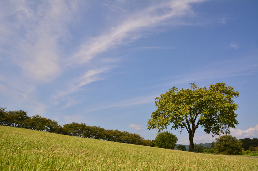
<svg viewBox="0 0 258 171">
<path fill-rule="evenodd" d="M 155 145 L 159 148 L 175 149 L 178 138 L 172 132 L 161 132 L 155 138 Z"/>
</svg>

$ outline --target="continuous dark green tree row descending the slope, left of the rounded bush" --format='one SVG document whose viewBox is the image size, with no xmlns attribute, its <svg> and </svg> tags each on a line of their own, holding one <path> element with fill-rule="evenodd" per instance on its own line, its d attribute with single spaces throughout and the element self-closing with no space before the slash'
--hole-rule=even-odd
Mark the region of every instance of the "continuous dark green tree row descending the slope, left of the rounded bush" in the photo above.
<svg viewBox="0 0 258 171">
<path fill-rule="evenodd" d="M 17 128 L 26 128 L 38 131 L 52 132 L 56 134 L 70 135 L 82 138 L 94 138 L 99 140 L 122 142 L 144 146 L 153 146 L 151 140 L 146 140 L 139 134 L 112 129 L 104 129 L 99 126 L 88 126 L 85 123 L 58 124 L 57 121 L 41 117 L 39 115 L 28 116 L 23 110 L 6 111 L 0 107 L 0 125 Z"/>
</svg>

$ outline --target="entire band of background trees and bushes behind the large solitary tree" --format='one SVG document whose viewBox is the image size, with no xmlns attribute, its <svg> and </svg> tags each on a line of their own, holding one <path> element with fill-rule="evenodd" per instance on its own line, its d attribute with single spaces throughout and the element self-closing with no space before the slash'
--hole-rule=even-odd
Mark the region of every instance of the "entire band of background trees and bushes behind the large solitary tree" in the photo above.
<svg viewBox="0 0 258 171">
<path fill-rule="evenodd" d="M 159 133 L 155 140 L 146 140 L 139 134 L 133 134 L 127 131 L 104 129 L 100 126 L 88 126 L 86 123 L 79 124 L 76 122 L 61 125 L 55 120 L 41 117 L 40 115 L 30 117 L 27 115 L 27 112 L 23 110 L 6 111 L 6 108 L 1 107 L 0 125 L 127 144 L 167 149 L 174 149 L 176 147 L 178 150 L 187 151 L 186 146 L 176 145 L 176 142 L 178 141 L 177 137 L 168 131 Z M 216 138 L 216 142 L 212 142 L 210 147 L 194 144 L 194 152 L 210 154 L 242 154 L 242 152 L 244 152 L 243 150 L 246 150 L 246 153 L 249 153 L 249 150 L 256 153 L 255 151 L 258 151 L 257 146 L 257 138 L 238 140 L 236 137 L 232 137 L 231 135 L 223 135 Z"/>
</svg>

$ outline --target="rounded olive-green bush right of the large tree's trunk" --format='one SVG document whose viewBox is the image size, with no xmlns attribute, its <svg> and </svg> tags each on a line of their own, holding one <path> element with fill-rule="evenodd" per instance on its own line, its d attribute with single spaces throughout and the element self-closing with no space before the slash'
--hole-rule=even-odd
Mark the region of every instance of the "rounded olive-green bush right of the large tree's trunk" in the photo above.
<svg viewBox="0 0 258 171">
<path fill-rule="evenodd" d="M 231 135 L 223 135 L 216 138 L 214 151 L 216 154 L 240 155 L 242 154 L 242 142 Z"/>
</svg>

